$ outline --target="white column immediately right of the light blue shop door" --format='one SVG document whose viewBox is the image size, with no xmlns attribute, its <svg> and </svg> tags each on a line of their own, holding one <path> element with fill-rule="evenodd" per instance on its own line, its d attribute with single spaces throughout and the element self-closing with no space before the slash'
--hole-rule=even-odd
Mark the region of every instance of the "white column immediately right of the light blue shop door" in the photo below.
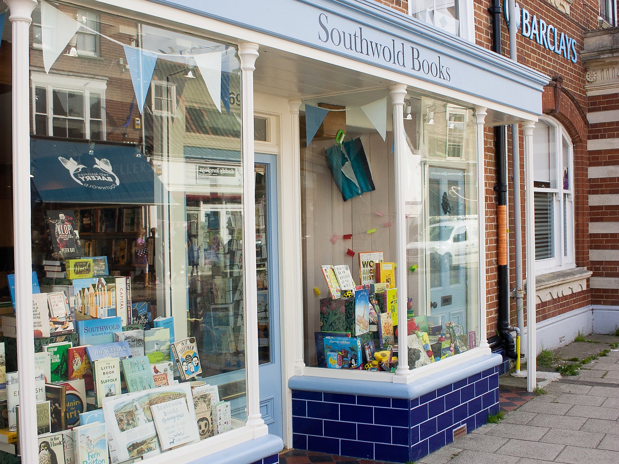
<svg viewBox="0 0 619 464">
<path fill-rule="evenodd" d="M 295 256 L 293 257 L 294 267 L 292 272 L 295 278 L 295 288 L 303 289 L 303 275 L 301 272 L 301 146 L 299 134 L 299 107 L 301 100 L 290 100 L 290 116 L 292 118 L 292 205 L 293 210 L 290 214 L 293 217 L 292 234 L 295 244 Z M 295 375 L 303 375 L 303 291 L 297 292 L 295 312 Z"/>
</svg>

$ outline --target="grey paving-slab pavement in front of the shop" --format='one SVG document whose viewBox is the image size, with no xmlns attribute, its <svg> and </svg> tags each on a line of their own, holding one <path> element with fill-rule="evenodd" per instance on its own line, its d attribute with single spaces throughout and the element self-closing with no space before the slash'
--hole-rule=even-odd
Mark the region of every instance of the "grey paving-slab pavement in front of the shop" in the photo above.
<svg viewBox="0 0 619 464">
<path fill-rule="evenodd" d="M 561 348 L 557 359 L 584 359 L 605 349 L 608 356 L 417 464 L 619 464 L 619 349 L 612 345 L 619 337 L 587 339 Z"/>
</svg>

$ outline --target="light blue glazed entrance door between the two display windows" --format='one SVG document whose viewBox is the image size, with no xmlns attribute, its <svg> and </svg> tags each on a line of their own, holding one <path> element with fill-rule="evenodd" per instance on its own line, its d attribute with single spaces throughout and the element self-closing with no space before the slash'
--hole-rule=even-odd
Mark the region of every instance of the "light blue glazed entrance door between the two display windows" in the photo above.
<svg viewBox="0 0 619 464">
<path fill-rule="evenodd" d="M 269 433 L 283 437 L 275 164 L 275 155 L 256 153 L 258 359 L 262 419 Z"/>
</svg>

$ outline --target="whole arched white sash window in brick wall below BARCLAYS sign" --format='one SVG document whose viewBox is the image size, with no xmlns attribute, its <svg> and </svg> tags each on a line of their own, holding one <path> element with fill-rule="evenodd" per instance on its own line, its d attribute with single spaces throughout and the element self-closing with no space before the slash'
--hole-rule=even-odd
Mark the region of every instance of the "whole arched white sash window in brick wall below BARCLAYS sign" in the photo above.
<svg viewBox="0 0 619 464">
<path fill-rule="evenodd" d="M 535 124 L 535 260 L 540 273 L 574 266 L 572 145 L 551 119 Z"/>
</svg>

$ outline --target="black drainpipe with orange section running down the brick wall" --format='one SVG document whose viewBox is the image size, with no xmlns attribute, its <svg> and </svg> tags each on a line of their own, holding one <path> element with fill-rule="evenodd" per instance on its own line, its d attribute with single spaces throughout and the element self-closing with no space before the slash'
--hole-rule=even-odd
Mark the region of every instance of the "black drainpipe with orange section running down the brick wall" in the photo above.
<svg viewBox="0 0 619 464">
<path fill-rule="evenodd" d="M 488 11 L 492 15 L 492 51 L 501 54 L 501 2 L 492 0 Z M 498 290 L 499 320 L 497 332 L 503 340 L 505 354 L 516 359 L 516 343 L 509 332 L 509 267 L 507 221 L 507 127 L 495 127 L 496 217 L 498 247 L 496 286 Z"/>
</svg>

